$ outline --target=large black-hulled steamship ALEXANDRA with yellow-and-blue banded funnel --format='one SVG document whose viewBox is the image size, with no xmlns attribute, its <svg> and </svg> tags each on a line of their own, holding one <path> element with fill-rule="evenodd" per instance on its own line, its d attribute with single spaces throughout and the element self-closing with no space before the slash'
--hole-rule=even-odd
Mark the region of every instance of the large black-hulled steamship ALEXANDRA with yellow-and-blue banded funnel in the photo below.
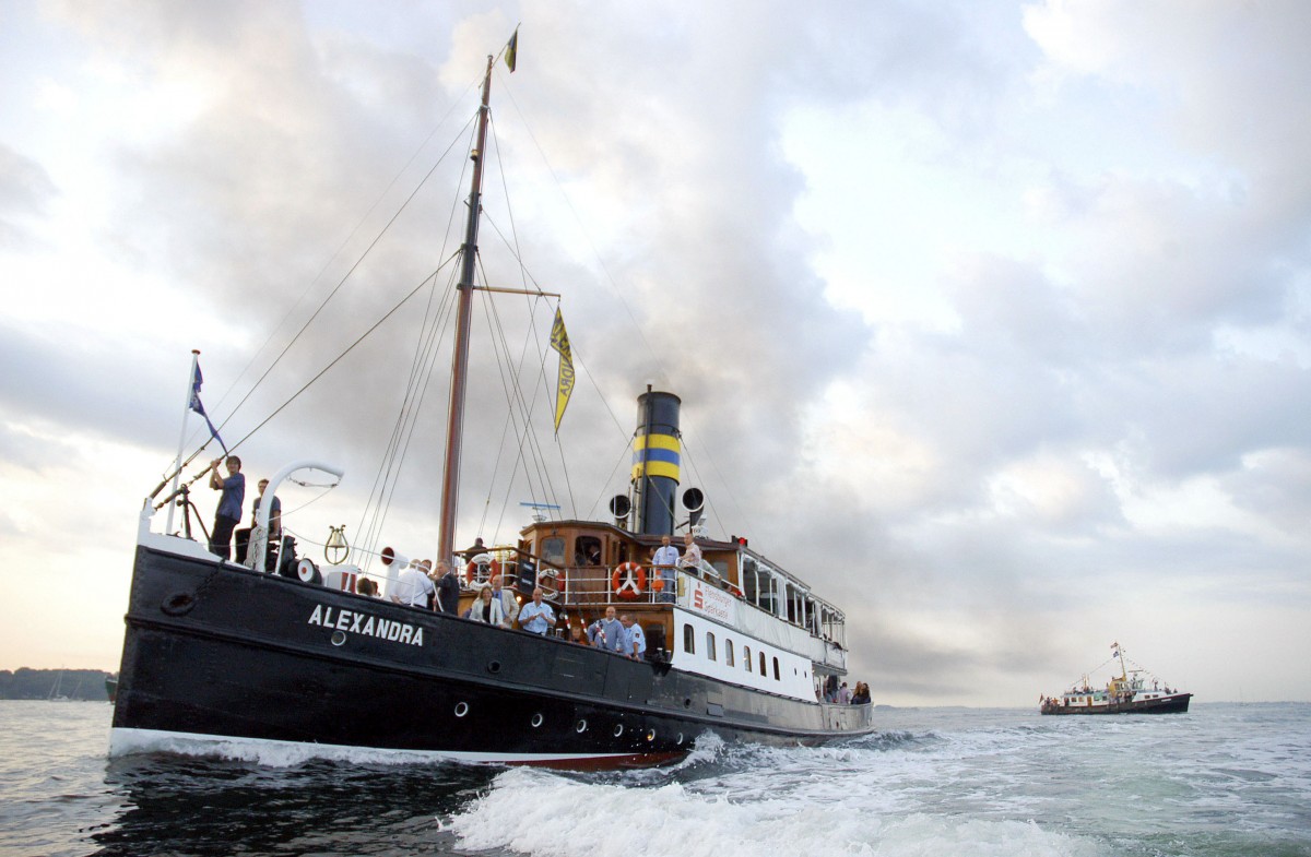
<svg viewBox="0 0 1311 857">
<path fill-rule="evenodd" d="M 316 756 L 367 748 L 612 767 L 676 759 L 707 733 L 794 746 L 872 731 L 872 705 L 821 698 L 847 672 L 842 609 L 745 536 L 707 536 L 699 489 L 679 497 L 680 400 L 670 392 L 637 398 L 632 469 L 610 518 L 560 519 L 539 506 L 513 543 L 456 552 L 471 300 L 506 291 L 479 283 L 475 265 L 493 67 L 489 56 L 469 155 L 437 553 L 460 557 L 460 613 L 499 575 L 520 603 L 540 587 L 556 625 L 539 636 L 396 603 L 401 570 L 418 562 L 404 545 L 378 554 L 357 545 L 347 563 L 337 532 L 321 557 L 296 556 L 290 536 L 270 537 L 271 503 L 258 510 L 244 561 L 220 558 L 194 535 L 190 484 L 174 473 L 173 490 L 161 482 L 140 514 L 111 752 L 271 742 Z M 305 472 L 343 469 L 291 461 L 265 495 Z M 281 525 L 296 532 L 296 515 Z M 686 532 L 701 561 L 654 567 L 662 537 Z M 364 579 L 382 598 L 361 594 Z M 645 630 L 645 657 L 570 639 L 612 605 Z"/>
</svg>

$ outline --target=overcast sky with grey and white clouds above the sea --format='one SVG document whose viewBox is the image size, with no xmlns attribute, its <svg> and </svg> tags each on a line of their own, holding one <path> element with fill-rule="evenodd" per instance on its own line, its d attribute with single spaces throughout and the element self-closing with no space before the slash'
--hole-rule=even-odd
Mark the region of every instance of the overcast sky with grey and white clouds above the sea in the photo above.
<svg viewBox="0 0 1311 857">
<path fill-rule="evenodd" d="M 519 286 L 513 229 L 562 294 L 566 512 L 623 490 L 653 384 L 711 535 L 843 607 L 878 702 L 1030 705 L 1117 639 L 1200 701 L 1311 700 L 1311 5 L 804 5 L 0 0 L 0 668 L 117 668 L 191 349 L 240 438 L 437 269 L 522 24 L 482 256 Z M 243 444 L 346 467 L 292 527 L 361 531 L 444 274 Z M 380 536 L 414 554 L 444 360 Z M 494 457 L 458 543 L 523 523 Z"/>
</svg>

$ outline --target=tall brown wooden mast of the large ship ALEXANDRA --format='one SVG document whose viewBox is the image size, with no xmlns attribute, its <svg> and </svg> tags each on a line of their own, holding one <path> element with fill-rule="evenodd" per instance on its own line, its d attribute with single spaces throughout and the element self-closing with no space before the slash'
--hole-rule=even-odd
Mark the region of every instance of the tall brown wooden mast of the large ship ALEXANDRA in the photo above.
<svg viewBox="0 0 1311 857">
<path fill-rule="evenodd" d="M 488 114 L 492 97 L 492 64 L 482 79 L 482 106 L 479 109 L 479 132 L 473 153 L 473 178 L 469 181 L 469 210 L 460 249 L 459 307 L 455 318 L 455 354 L 451 356 L 451 406 L 446 423 L 446 468 L 442 474 L 442 522 L 437 536 L 437 556 L 450 560 L 455 549 L 455 512 L 460 499 L 460 444 L 464 439 L 464 392 L 469 368 L 469 324 L 473 313 L 473 275 L 479 257 L 479 215 L 482 204 L 482 153 L 488 139 Z"/>
</svg>

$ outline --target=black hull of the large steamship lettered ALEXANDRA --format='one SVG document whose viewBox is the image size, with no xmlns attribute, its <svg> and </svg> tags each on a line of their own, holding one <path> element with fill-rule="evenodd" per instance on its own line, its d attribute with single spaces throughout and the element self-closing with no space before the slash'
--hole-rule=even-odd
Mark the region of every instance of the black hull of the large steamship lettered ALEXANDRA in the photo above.
<svg viewBox="0 0 1311 857">
<path fill-rule="evenodd" d="M 678 757 L 704 731 L 818 744 L 872 730 L 869 705 L 805 702 L 149 548 L 138 548 L 126 622 L 117 750 L 181 735 L 625 764 Z"/>
</svg>

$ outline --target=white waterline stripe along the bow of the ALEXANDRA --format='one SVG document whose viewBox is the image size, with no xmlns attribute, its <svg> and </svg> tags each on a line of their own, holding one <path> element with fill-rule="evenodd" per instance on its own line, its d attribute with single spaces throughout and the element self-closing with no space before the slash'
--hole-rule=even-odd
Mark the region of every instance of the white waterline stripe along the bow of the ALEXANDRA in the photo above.
<svg viewBox="0 0 1311 857">
<path fill-rule="evenodd" d="M 231 735 L 201 735 L 172 733 L 155 729 L 109 730 L 110 757 L 147 752 L 174 752 L 187 756 L 214 756 L 260 761 L 270 765 L 298 765 L 309 759 L 330 759 L 355 763 L 414 764 L 433 761 L 460 761 L 465 764 L 532 764 L 547 761 L 578 761 L 585 759 L 623 759 L 640 753 L 492 753 L 446 750 L 389 750 L 384 747 L 351 747 L 347 744 L 317 744 L 266 738 L 233 738 Z"/>
</svg>

